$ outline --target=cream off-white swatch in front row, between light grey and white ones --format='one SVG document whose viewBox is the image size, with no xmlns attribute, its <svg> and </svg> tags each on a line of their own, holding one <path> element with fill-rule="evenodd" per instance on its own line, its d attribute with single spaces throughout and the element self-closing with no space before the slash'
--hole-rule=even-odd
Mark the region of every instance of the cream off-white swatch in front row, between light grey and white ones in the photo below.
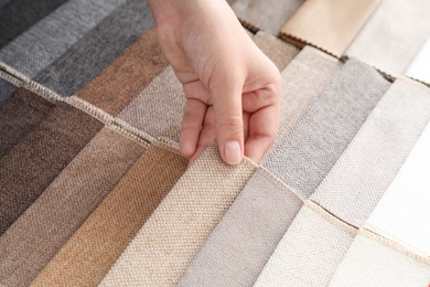
<svg viewBox="0 0 430 287">
<path fill-rule="evenodd" d="M 356 230 L 313 204 L 299 211 L 255 286 L 326 286 Z"/>
</svg>

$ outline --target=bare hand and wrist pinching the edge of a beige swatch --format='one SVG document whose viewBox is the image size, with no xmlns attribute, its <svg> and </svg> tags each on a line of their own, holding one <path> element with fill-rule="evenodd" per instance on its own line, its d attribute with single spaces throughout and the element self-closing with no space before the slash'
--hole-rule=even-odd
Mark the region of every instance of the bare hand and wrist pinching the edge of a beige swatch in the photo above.
<svg viewBox="0 0 430 287">
<path fill-rule="evenodd" d="M 259 162 L 279 125 L 281 78 L 225 0 L 150 0 L 160 45 L 183 85 L 180 147 L 191 162 L 214 139 L 227 164 Z"/>
</svg>

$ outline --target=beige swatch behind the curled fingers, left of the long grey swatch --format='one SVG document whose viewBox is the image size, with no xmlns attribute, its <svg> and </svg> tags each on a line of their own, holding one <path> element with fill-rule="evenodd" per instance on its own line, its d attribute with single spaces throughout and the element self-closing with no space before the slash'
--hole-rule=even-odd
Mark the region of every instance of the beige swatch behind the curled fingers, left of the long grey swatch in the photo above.
<svg viewBox="0 0 430 287">
<path fill-rule="evenodd" d="M 279 129 L 273 144 L 261 160 L 262 166 L 271 170 L 283 168 L 283 162 L 273 160 L 282 155 L 291 128 L 340 67 L 341 63 L 334 57 L 305 46 L 281 73 Z"/>
</svg>

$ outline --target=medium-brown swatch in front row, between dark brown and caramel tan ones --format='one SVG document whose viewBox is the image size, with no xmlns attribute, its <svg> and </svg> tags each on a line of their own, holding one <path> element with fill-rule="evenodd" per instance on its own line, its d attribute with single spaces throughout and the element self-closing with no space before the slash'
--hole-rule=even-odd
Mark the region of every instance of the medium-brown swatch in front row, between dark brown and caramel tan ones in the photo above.
<svg viewBox="0 0 430 287">
<path fill-rule="evenodd" d="M 28 286 L 143 151 L 101 129 L 0 237 L 0 284 Z"/>
</svg>

